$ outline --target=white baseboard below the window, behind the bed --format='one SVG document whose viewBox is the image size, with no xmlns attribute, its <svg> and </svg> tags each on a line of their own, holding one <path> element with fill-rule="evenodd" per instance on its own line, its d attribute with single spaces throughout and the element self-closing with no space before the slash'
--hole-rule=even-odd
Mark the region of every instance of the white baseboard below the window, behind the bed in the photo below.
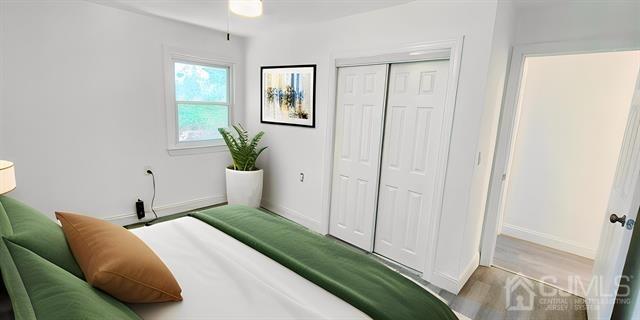
<svg viewBox="0 0 640 320">
<path fill-rule="evenodd" d="M 205 197 L 205 198 L 187 200 L 183 202 L 171 203 L 171 204 L 155 207 L 154 209 L 156 210 L 158 217 L 164 217 L 171 214 L 191 211 L 198 208 L 222 204 L 225 202 L 227 202 L 227 196 L 220 195 L 220 196 Z M 145 222 L 151 219 L 153 219 L 153 213 L 151 211 L 146 211 L 145 218 L 140 220 L 138 219 L 138 216 L 135 213 L 127 213 L 127 214 L 105 218 L 105 220 L 113 222 L 115 224 L 119 224 L 119 225 L 127 225 L 127 224 L 136 223 L 136 222 Z"/>
</svg>

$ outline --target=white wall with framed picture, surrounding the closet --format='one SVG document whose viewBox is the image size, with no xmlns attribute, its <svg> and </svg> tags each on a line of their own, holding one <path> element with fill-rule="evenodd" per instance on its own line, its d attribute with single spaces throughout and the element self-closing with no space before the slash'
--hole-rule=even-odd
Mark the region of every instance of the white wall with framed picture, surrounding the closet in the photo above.
<svg viewBox="0 0 640 320">
<path fill-rule="evenodd" d="M 265 169 L 264 204 L 314 230 L 327 231 L 324 198 L 330 179 L 325 173 L 332 154 L 327 141 L 327 108 L 332 57 L 353 51 L 406 47 L 419 42 L 465 36 L 445 199 L 435 272 L 461 286 L 477 266 L 482 210 L 469 211 L 476 149 L 483 117 L 487 73 L 492 49 L 496 2 L 418 1 L 406 5 L 250 38 L 247 43 L 247 124 L 266 132 L 269 146 L 260 165 Z M 261 124 L 260 66 L 318 64 L 315 129 Z M 490 151 L 489 151 L 490 152 Z M 478 170 L 487 170 L 480 167 Z M 305 182 L 298 179 L 305 173 Z M 472 216 L 473 215 L 473 216 Z M 470 229 L 477 229 L 468 233 Z M 472 248 L 472 249 L 469 249 Z M 474 263 L 475 261 L 475 263 Z M 458 283 L 460 282 L 460 283 Z"/>
</svg>

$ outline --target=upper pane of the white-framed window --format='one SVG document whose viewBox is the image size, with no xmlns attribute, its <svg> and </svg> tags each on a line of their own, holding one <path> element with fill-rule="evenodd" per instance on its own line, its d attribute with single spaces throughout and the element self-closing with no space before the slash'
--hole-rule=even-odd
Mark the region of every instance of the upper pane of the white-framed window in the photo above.
<svg viewBox="0 0 640 320">
<path fill-rule="evenodd" d="M 176 62 L 176 100 L 228 102 L 229 69 Z"/>
</svg>

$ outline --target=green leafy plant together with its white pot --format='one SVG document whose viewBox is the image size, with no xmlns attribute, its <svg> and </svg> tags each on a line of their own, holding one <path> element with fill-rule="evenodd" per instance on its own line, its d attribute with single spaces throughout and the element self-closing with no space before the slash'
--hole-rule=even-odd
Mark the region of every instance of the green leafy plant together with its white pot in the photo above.
<svg viewBox="0 0 640 320">
<path fill-rule="evenodd" d="M 249 132 L 242 125 L 233 125 L 233 129 L 238 133 L 237 138 L 225 128 L 218 129 L 233 159 L 233 164 L 226 169 L 227 203 L 258 208 L 262 200 L 263 171 L 256 168 L 256 160 L 267 148 L 258 148 L 264 132 L 249 139 Z"/>
</svg>

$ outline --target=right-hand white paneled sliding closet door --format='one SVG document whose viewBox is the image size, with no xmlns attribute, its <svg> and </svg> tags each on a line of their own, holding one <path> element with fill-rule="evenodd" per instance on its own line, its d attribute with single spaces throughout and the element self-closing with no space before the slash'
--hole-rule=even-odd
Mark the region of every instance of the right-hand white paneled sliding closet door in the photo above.
<svg viewBox="0 0 640 320">
<path fill-rule="evenodd" d="M 374 251 L 426 263 L 449 61 L 391 65 Z"/>
</svg>

